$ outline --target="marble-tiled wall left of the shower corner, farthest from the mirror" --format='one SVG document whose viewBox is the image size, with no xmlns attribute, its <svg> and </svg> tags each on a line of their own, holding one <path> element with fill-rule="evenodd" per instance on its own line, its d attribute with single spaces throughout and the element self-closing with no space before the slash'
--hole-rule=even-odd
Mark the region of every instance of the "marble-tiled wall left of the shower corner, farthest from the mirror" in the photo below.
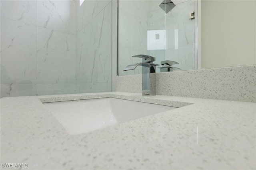
<svg viewBox="0 0 256 170">
<path fill-rule="evenodd" d="M 1 97 L 75 93 L 75 1 L 1 0 Z"/>
</svg>

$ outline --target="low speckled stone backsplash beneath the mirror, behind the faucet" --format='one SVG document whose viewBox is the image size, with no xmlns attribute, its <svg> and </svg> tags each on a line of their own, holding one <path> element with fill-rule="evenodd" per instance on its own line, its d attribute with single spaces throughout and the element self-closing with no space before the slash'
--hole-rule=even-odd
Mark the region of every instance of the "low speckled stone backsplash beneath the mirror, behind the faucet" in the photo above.
<svg viewBox="0 0 256 170">
<path fill-rule="evenodd" d="M 255 79 L 256 65 L 157 73 L 156 94 L 256 102 Z M 141 84 L 142 75 L 116 77 L 116 91 L 141 93 Z"/>
</svg>

